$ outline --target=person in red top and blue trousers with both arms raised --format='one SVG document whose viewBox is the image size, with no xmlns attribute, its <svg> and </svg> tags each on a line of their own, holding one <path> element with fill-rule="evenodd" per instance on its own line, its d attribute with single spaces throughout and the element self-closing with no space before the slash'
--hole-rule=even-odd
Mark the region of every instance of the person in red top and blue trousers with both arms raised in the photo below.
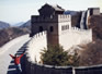
<svg viewBox="0 0 102 74">
<path fill-rule="evenodd" d="M 24 55 L 24 53 L 22 53 L 21 55 L 12 55 L 12 54 L 10 54 L 10 57 L 14 60 L 14 64 L 15 64 L 15 67 L 16 67 L 16 71 L 18 72 L 22 72 L 22 70 L 21 70 L 21 64 L 20 64 L 20 60 L 21 60 L 21 58 Z"/>
</svg>

